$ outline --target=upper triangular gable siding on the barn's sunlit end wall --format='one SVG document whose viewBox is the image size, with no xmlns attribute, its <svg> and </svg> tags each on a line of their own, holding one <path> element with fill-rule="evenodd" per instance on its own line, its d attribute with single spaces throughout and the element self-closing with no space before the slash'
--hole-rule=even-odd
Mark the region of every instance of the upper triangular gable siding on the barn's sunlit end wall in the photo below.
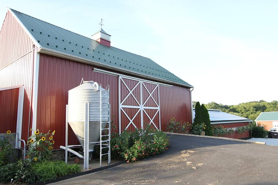
<svg viewBox="0 0 278 185">
<path fill-rule="evenodd" d="M 23 27 L 8 11 L 0 31 L 0 69 L 31 51 L 33 44 Z"/>
</svg>

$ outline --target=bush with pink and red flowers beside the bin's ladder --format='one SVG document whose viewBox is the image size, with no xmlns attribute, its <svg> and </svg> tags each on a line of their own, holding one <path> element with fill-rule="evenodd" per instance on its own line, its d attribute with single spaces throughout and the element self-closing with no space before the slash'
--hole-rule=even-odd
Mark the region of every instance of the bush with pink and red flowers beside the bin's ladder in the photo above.
<svg viewBox="0 0 278 185">
<path fill-rule="evenodd" d="M 169 139 L 161 130 L 136 129 L 134 132 L 124 130 L 120 135 L 111 138 L 112 156 L 121 156 L 127 162 L 136 161 L 165 152 L 169 147 Z"/>
</svg>

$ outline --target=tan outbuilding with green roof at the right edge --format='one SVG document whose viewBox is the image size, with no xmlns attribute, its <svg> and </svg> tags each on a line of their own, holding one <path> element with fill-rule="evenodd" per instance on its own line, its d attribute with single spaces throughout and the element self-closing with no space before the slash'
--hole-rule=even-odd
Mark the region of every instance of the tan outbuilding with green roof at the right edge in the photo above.
<svg viewBox="0 0 278 185">
<path fill-rule="evenodd" d="M 261 114 L 255 119 L 258 125 L 266 126 L 267 130 L 271 128 L 278 129 L 278 112 L 261 112 Z"/>
</svg>

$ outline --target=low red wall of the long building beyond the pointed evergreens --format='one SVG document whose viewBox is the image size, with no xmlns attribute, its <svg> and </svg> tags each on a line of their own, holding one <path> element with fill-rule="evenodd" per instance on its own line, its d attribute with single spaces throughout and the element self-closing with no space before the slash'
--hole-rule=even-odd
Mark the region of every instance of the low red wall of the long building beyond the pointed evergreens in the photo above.
<svg viewBox="0 0 278 185">
<path fill-rule="evenodd" d="M 214 127 L 219 127 L 220 125 L 224 128 L 232 128 L 232 127 L 242 127 L 248 125 L 249 122 L 239 122 L 239 123 L 224 123 L 224 124 L 212 124 L 211 126 Z M 225 137 L 225 138 L 234 138 L 234 139 L 242 139 L 242 138 L 247 138 L 250 136 L 250 131 L 244 131 L 242 133 L 237 133 L 234 132 L 232 134 L 225 134 L 220 137 Z"/>
</svg>

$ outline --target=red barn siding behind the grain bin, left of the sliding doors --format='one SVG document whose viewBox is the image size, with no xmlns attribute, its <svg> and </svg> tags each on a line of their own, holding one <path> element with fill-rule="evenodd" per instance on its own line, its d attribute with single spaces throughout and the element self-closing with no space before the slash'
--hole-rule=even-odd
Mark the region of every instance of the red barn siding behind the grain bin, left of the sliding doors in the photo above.
<svg viewBox="0 0 278 185">
<path fill-rule="evenodd" d="M 113 124 L 118 124 L 118 77 L 93 71 L 94 66 L 40 54 L 37 128 L 41 132 L 55 132 L 55 149 L 65 145 L 65 106 L 68 90 L 78 86 L 83 78 L 110 86 Z M 118 132 L 118 128 L 116 130 Z M 78 144 L 70 129 L 69 144 Z"/>
</svg>

